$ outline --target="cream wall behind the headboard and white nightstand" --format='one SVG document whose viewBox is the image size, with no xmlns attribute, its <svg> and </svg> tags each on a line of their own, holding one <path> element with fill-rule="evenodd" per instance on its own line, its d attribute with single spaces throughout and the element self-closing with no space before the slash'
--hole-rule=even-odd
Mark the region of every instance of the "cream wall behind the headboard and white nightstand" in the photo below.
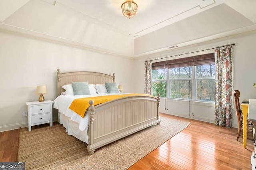
<svg viewBox="0 0 256 170">
<path fill-rule="evenodd" d="M 27 110 L 27 101 L 38 101 L 37 85 L 46 85 L 45 100 L 56 98 L 58 68 L 62 72 L 115 73 L 124 92 L 134 90 L 131 58 L 2 31 L 0 44 L 0 131 L 27 126 L 22 112 Z"/>
</svg>

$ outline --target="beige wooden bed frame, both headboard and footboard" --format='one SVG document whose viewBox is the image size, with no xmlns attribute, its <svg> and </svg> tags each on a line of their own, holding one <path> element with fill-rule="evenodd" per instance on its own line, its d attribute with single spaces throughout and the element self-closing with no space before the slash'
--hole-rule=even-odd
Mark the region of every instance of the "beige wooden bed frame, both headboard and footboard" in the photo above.
<svg viewBox="0 0 256 170">
<path fill-rule="evenodd" d="M 89 84 L 114 83 L 113 76 L 87 71 L 60 73 L 57 70 L 57 95 L 59 96 L 63 85 L 72 84 L 72 81 L 88 81 Z M 160 98 L 151 96 L 129 96 L 115 99 L 94 106 L 90 101 L 88 109 L 89 128 L 88 146 L 89 154 L 95 149 L 114 142 L 120 138 L 138 132 L 152 125 L 159 125 L 159 103 Z"/>
</svg>

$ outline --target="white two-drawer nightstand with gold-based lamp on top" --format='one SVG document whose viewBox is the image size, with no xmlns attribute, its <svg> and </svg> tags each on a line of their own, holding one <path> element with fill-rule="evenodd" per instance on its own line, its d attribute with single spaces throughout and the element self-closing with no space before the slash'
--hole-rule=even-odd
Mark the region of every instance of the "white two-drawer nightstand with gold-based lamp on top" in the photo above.
<svg viewBox="0 0 256 170">
<path fill-rule="evenodd" d="M 26 102 L 28 105 L 28 131 L 31 131 L 31 126 L 44 123 L 50 123 L 52 127 L 52 103 L 51 100 Z"/>
</svg>

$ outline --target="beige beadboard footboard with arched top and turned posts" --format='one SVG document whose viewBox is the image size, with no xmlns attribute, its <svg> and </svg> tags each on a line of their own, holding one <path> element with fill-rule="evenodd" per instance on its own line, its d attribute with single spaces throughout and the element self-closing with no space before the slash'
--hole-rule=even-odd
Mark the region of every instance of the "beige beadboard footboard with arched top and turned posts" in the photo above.
<svg viewBox="0 0 256 170">
<path fill-rule="evenodd" d="M 94 101 L 89 103 L 89 154 L 93 154 L 97 148 L 161 122 L 159 95 L 123 97 L 95 107 Z"/>
</svg>

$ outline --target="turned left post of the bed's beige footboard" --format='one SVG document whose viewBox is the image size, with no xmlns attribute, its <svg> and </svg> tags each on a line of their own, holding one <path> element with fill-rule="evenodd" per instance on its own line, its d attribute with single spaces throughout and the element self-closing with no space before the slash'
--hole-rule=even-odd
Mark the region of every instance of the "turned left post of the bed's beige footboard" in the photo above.
<svg viewBox="0 0 256 170">
<path fill-rule="evenodd" d="M 94 122 L 94 114 L 95 114 L 95 111 L 94 111 L 94 101 L 93 100 L 90 100 L 89 101 L 89 111 L 88 111 L 88 114 L 89 114 L 89 128 L 88 128 L 88 146 L 87 146 L 87 150 L 88 150 L 88 154 L 91 155 L 91 154 L 94 154 L 94 151 L 95 150 L 91 150 L 90 146 L 92 144 L 94 144 L 94 138 L 93 138 L 93 122 Z"/>
</svg>

